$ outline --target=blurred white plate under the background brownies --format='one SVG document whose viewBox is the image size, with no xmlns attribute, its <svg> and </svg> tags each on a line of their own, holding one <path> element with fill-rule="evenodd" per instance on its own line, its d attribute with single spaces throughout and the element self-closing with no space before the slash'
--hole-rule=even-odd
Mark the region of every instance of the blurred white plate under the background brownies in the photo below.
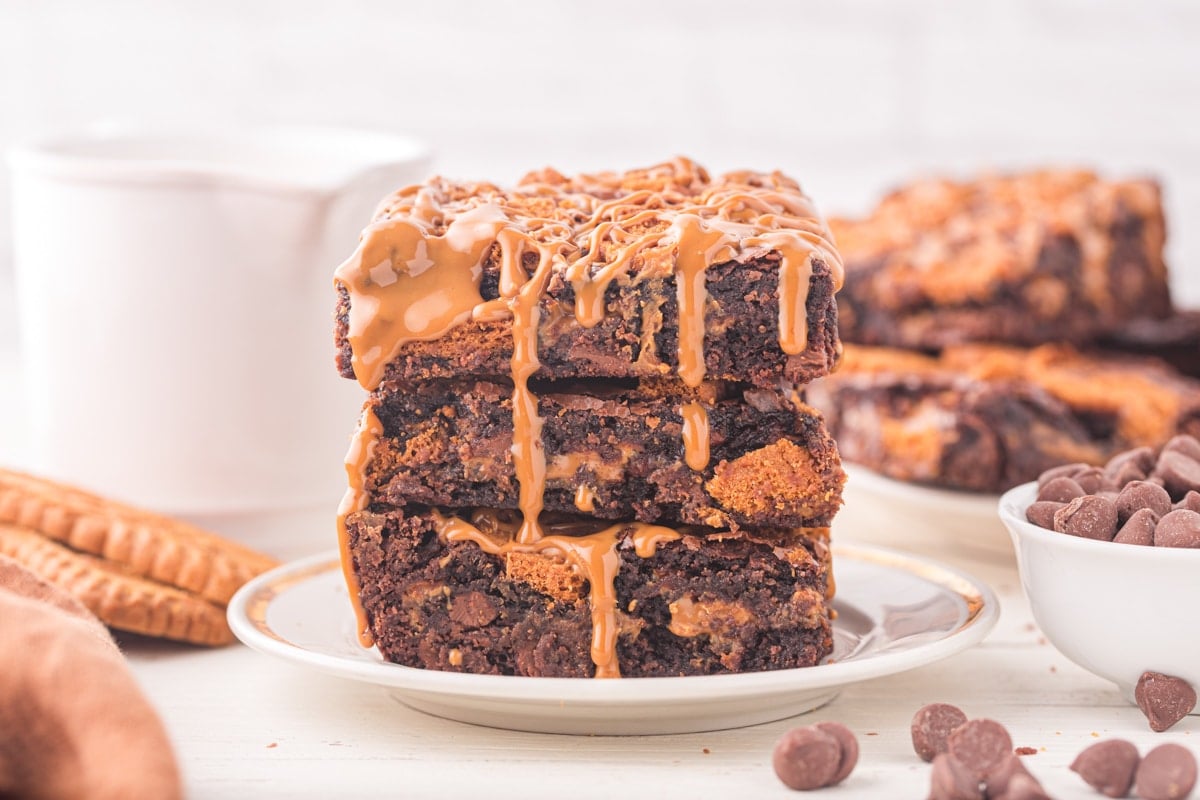
<svg viewBox="0 0 1200 800">
<path fill-rule="evenodd" d="M 996 512 L 998 494 L 940 489 L 858 464 L 842 467 L 846 488 L 833 523 L 835 536 L 852 531 L 859 541 L 923 555 L 1013 564 L 1013 543 Z"/>
</svg>

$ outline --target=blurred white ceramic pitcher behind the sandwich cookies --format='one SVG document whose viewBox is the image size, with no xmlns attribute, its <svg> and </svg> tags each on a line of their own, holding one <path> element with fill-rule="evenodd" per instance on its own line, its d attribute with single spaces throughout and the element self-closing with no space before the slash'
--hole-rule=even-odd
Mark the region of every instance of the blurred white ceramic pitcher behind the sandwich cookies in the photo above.
<svg viewBox="0 0 1200 800">
<path fill-rule="evenodd" d="M 31 469 L 182 515 L 336 507 L 362 393 L 334 269 L 401 137 L 108 131 L 11 154 Z"/>
</svg>

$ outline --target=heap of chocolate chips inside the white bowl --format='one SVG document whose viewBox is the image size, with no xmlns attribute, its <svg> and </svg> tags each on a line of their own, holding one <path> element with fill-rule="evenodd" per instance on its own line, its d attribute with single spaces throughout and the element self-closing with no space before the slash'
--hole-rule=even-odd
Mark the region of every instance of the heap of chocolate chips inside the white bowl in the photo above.
<svg viewBox="0 0 1200 800">
<path fill-rule="evenodd" d="M 1181 434 L 1157 453 L 1138 447 L 1104 467 L 1049 469 L 1025 517 L 1084 539 L 1200 547 L 1200 441 Z"/>
</svg>

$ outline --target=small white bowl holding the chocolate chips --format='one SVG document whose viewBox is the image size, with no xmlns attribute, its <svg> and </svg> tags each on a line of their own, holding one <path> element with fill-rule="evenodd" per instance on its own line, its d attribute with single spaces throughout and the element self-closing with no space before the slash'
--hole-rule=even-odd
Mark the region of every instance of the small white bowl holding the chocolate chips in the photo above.
<svg viewBox="0 0 1200 800">
<path fill-rule="evenodd" d="M 1037 497 L 1022 483 L 1000 498 L 1025 596 L 1042 632 L 1132 702 L 1147 670 L 1200 687 L 1200 549 L 1117 545 L 1025 519 Z"/>
</svg>

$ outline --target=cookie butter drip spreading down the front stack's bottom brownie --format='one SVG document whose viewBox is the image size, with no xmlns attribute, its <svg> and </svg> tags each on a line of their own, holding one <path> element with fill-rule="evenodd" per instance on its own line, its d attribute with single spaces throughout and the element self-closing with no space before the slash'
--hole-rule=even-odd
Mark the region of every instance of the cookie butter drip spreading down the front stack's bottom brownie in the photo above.
<svg viewBox="0 0 1200 800">
<path fill-rule="evenodd" d="M 482 518 L 481 518 L 482 517 Z M 564 533 L 556 533 L 548 525 L 546 534 L 530 542 L 520 541 L 520 530 L 514 531 L 496 515 L 476 512 L 475 523 L 458 517 L 434 513 L 438 536 L 448 542 L 473 542 L 485 553 L 508 555 L 509 553 L 546 553 L 566 560 L 588 582 L 588 604 L 592 609 L 592 662 L 596 678 L 620 678 L 617 658 L 617 571 L 620 569 L 618 542 L 626 535 L 634 541 L 634 552 L 640 558 L 654 555 L 658 546 L 679 539 L 679 533 L 661 525 L 641 522 L 623 522 L 593 534 L 569 533 L 578 523 L 568 523 Z M 487 528 L 487 533 L 481 530 Z"/>
</svg>

